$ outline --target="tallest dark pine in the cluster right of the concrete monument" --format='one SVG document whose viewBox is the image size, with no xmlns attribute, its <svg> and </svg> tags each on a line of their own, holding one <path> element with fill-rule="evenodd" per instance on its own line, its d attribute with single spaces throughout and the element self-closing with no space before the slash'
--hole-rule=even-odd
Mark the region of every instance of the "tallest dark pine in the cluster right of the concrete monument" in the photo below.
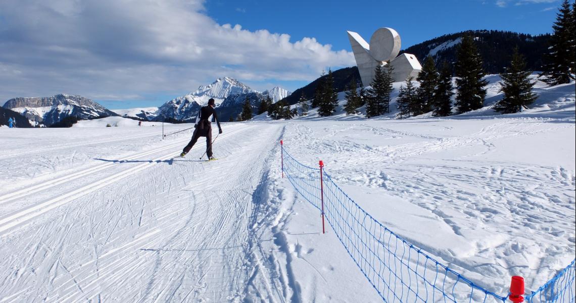
<svg viewBox="0 0 576 303">
<path fill-rule="evenodd" d="M 488 84 L 484 77 L 482 58 L 478 53 L 472 36 L 465 34 L 462 37 L 456 60 L 456 107 L 458 113 L 473 111 L 482 108 Z"/>
</svg>

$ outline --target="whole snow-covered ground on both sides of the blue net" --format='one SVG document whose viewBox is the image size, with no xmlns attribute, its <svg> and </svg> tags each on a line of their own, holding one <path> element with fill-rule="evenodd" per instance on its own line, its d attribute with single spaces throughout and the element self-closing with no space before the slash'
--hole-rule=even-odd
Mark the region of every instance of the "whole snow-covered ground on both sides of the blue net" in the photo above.
<svg viewBox="0 0 576 303">
<path fill-rule="evenodd" d="M 0 298 L 380 302 L 281 178 L 281 138 L 450 268 L 502 295 L 520 274 L 529 293 L 575 255 L 570 100 L 498 119 L 223 123 L 214 162 L 202 140 L 173 158 L 190 131 L 0 128 Z"/>
</svg>

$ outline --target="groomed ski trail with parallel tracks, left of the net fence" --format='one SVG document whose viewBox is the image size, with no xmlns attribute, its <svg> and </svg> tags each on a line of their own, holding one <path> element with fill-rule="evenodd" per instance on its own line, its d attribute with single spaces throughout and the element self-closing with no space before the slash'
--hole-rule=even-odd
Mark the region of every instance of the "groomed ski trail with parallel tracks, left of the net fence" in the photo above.
<svg viewBox="0 0 576 303">
<path fill-rule="evenodd" d="M 269 267 L 255 274 L 259 245 L 272 241 L 260 238 L 258 220 L 274 217 L 259 203 L 281 134 L 230 126 L 214 162 L 199 160 L 203 140 L 175 157 L 183 134 L 2 192 L 0 301 L 229 302 L 251 291 L 286 301 L 290 286 L 273 285 Z"/>
</svg>

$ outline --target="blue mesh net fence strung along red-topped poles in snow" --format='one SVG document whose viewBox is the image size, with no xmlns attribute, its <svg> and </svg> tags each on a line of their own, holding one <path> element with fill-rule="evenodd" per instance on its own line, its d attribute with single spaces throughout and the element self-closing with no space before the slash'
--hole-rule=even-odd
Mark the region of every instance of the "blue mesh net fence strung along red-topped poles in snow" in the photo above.
<svg viewBox="0 0 576 303">
<path fill-rule="evenodd" d="M 282 176 L 334 230 L 348 254 L 385 302 L 522 302 L 518 287 L 499 296 L 438 262 L 386 228 L 354 202 L 324 171 L 301 164 L 281 141 Z M 324 225 L 324 221 L 323 221 Z M 324 228 L 324 226 L 323 226 Z M 575 259 L 576 260 L 576 259 Z M 528 302 L 574 302 L 574 263 L 526 296 Z M 503 279 L 510 279 L 506 277 Z"/>
</svg>

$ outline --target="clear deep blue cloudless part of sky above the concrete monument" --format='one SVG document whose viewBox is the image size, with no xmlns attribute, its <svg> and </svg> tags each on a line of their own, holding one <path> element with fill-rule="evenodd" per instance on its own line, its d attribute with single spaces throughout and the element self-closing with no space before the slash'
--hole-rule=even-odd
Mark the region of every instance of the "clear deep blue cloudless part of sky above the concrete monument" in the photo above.
<svg viewBox="0 0 576 303">
<path fill-rule="evenodd" d="M 350 50 L 346 31 L 358 32 L 368 41 L 380 27 L 396 29 L 402 48 L 468 29 L 547 33 L 551 32 L 560 2 L 214 0 L 206 2 L 206 13 L 221 24 L 288 33 L 293 40 L 316 37 L 320 43 L 332 44 L 335 50 Z"/>
</svg>

